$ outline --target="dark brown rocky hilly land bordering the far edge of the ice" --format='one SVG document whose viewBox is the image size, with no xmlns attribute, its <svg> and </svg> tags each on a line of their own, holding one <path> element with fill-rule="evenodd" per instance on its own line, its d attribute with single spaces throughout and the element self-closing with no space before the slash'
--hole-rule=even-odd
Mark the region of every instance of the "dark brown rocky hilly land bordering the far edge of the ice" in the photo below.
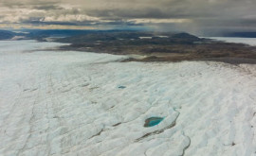
<svg viewBox="0 0 256 156">
<path fill-rule="evenodd" d="M 76 50 L 115 55 L 142 55 L 127 61 L 226 61 L 250 62 L 256 59 L 256 47 L 243 43 L 224 43 L 198 38 L 187 33 L 99 32 L 57 40 L 71 43 L 61 50 Z"/>
</svg>

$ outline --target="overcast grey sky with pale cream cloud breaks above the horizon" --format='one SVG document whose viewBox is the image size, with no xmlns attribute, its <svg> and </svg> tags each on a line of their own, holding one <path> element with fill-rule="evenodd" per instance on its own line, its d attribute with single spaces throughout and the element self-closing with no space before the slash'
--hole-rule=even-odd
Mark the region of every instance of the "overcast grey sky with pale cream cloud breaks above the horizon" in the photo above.
<svg viewBox="0 0 256 156">
<path fill-rule="evenodd" d="M 256 0 L 0 0 L 0 27 L 256 31 Z"/>
</svg>

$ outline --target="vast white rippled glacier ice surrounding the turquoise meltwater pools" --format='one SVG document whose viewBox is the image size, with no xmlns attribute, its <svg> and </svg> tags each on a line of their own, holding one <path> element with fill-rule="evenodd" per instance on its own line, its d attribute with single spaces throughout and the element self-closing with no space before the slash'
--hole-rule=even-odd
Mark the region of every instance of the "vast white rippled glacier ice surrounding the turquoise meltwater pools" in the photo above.
<svg viewBox="0 0 256 156">
<path fill-rule="evenodd" d="M 0 155 L 255 155 L 255 65 L 25 53 L 48 44 L 0 42 Z"/>
</svg>

